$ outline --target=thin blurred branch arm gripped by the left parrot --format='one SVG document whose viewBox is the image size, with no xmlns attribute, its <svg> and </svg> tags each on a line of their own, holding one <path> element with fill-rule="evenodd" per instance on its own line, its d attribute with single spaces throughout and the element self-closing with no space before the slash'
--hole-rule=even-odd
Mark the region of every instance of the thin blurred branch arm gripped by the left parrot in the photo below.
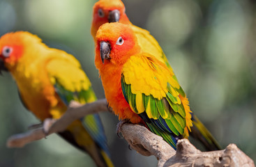
<svg viewBox="0 0 256 167">
<path fill-rule="evenodd" d="M 74 120 L 80 119 L 89 114 L 99 113 L 101 111 L 110 111 L 107 107 L 107 100 L 105 99 L 84 105 L 77 102 L 71 102 L 68 110 L 63 114 L 63 116 L 61 116 L 61 118 L 59 118 L 59 120 L 47 119 L 41 126 L 31 126 L 36 127 L 36 129 L 24 134 L 15 134 L 10 136 L 6 145 L 8 148 L 22 148 L 27 143 L 38 141 L 45 138 L 47 135 L 63 132 L 63 130 L 65 130 L 66 127 L 68 127 L 68 125 L 70 125 Z"/>
</svg>

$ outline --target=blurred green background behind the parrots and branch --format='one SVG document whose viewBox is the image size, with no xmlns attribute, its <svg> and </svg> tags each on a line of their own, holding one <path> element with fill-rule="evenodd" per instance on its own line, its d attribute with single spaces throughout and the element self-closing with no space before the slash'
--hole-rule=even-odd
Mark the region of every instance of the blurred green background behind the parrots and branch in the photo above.
<svg viewBox="0 0 256 167">
<path fill-rule="evenodd" d="M 0 35 L 30 31 L 50 47 L 73 54 L 104 97 L 90 34 L 93 0 L 0 0 Z M 163 47 L 191 109 L 226 147 L 236 143 L 256 160 L 256 4 L 251 0 L 124 0 L 130 21 Z M 26 111 L 8 73 L 0 77 L 0 166 L 94 166 L 57 135 L 20 149 L 12 134 L 38 123 Z M 128 150 L 115 134 L 115 116 L 100 113 L 116 166 L 156 166 L 155 157 Z"/>
</svg>

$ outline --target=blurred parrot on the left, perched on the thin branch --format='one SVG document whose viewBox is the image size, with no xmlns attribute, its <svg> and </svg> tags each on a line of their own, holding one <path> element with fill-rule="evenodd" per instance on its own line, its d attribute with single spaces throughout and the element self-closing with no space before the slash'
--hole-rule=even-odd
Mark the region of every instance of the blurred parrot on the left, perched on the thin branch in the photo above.
<svg viewBox="0 0 256 167">
<path fill-rule="evenodd" d="M 96 95 L 74 56 L 47 47 L 36 35 L 17 31 L 0 38 L 0 73 L 8 70 L 16 81 L 24 106 L 36 118 L 60 118 L 71 100 L 93 102 Z M 87 152 L 97 166 L 113 166 L 98 114 L 75 120 L 59 133 Z"/>
</svg>

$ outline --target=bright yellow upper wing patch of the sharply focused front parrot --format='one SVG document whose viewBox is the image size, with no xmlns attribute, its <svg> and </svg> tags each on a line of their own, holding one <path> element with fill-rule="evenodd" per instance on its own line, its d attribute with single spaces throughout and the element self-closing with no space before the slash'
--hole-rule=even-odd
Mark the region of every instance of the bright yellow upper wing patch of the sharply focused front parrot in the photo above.
<svg viewBox="0 0 256 167">
<path fill-rule="evenodd" d="M 126 84 L 131 85 L 133 94 L 153 95 L 158 100 L 166 97 L 167 82 L 174 88 L 177 86 L 177 82 L 172 79 L 172 72 L 150 54 L 131 56 L 123 65 L 123 76 Z M 179 95 L 176 90 L 172 91 L 174 95 Z"/>
</svg>

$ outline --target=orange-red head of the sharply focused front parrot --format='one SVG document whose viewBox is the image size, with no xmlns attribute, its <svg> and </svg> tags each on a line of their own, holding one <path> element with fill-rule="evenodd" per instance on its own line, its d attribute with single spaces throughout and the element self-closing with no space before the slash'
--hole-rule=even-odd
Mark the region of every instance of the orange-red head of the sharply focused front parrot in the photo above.
<svg viewBox="0 0 256 167">
<path fill-rule="evenodd" d="M 123 65 L 130 56 L 141 51 L 135 33 L 127 24 L 103 24 L 98 29 L 96 41 L 96 62 L 101 64 Z"/>
</svg>

